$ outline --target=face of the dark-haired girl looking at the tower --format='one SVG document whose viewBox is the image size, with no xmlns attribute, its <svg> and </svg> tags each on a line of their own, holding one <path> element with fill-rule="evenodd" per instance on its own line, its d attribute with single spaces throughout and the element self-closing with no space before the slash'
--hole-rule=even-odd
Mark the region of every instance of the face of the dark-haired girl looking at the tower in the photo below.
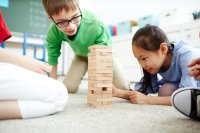
<svg viewBox="0 0 200 133">
<path fill-rule="evenodd" d="M 167 51 L 163 48 L 157 51 L 147 51 L 133 45 L 132 50 L 140 66 L 150 74 L 156 74 L 165 64 Z"/>
</svg>

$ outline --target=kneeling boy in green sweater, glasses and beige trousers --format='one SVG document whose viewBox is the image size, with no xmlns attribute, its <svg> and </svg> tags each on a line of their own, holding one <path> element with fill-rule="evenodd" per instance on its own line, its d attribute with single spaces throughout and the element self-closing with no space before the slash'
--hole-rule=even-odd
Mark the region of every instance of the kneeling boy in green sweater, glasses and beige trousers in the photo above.
<svg viewBox="0 0 200 133">
<path fill-rule="evenodd" d="M 53 66 L 51 77 L 57 78 L 57 64 L 62 41 L 68 42 L 75 56 L 65 76 L 69 92 L 76 92 L 87 72 L 88 47 L 111 45 L 106 26 L 91 12 L 81 10 L 78 0 L 43 0 L 48 18 L 53 22 L 47 32 L 48 63 Z M 113 83 L 117 88 L 128 89 L 121 67 L 114 60 Z"/>
</svg>

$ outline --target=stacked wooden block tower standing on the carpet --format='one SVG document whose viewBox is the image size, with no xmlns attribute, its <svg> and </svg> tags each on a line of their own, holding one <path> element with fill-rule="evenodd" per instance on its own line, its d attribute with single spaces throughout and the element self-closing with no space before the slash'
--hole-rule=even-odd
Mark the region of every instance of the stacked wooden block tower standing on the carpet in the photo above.
<svg viewBox="0 0 200 133">
<path fill-rule="evenodd" d="M 112 106 L 112 47 L 94 45 L 88 54 L 88 106 Z"/>
</svg>

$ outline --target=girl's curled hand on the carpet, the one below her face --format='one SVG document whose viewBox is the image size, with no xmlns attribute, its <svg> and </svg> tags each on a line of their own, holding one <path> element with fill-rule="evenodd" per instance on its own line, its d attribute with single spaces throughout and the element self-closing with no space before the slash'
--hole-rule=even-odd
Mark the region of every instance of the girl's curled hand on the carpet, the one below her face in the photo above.
<svg viewBox="0 0 200 133">
<path fill-rule="evenodd" d="M 130 91 L 129 93 L 129 99 L 133 104 L 147 104 L 147 97 L 148 96 L 139 91 Z"/>
</svg>

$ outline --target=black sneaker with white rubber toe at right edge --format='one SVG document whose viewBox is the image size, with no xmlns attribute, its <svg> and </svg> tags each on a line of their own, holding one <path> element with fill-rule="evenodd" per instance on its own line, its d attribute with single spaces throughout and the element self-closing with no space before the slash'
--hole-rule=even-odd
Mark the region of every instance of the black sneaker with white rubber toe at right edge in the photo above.
<svg viewBox="0 0 200 133">
<path fill-rule="evenodd" d="M 182 114 L 200 121 L 200 88 L 188 87 L 172 94 L 172 105 Z"/>
</svg>

